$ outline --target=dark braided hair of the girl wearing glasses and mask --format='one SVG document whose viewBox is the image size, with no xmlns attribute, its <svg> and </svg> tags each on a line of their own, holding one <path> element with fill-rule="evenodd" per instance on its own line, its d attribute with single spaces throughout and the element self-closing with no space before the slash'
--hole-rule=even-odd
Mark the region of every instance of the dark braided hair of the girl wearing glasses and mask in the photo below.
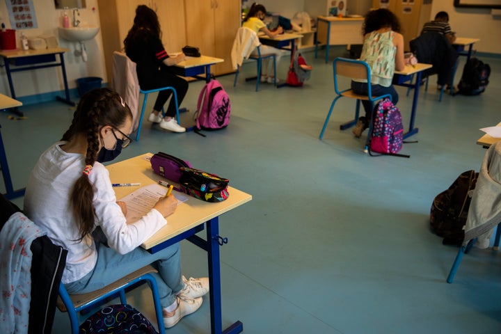
<svg viewBox="0 0 501 334">
<path fill-rule="evenodd" d="M 62 141 L 70 141 L 77 135 L 87 138 L 86 167 L 70 194 L 73 215 L 79 226 L 79 241 L 93 231 L 95 224 L 94 189 L 88 175 L 100 149 L 100 129 L 105 125 L 121 127 L 127 119 L 132 120 L 132 112 L 118 93 L 109 88 L 90 90 L 81 97 L 72 124 L 61 138 Z"/>
</svg>

